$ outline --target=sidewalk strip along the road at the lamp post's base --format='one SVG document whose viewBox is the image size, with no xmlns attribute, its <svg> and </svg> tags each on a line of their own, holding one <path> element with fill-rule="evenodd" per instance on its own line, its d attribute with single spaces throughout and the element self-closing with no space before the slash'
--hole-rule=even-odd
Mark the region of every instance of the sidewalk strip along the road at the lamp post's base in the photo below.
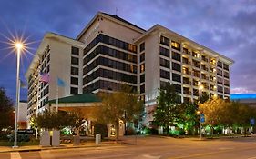
<svg viewBox="0 0 256 159">
<path fill-rule="evenodd" d="M 30 145 L 30 146 L 20 146 L 17 148 L 13 148 L 10 146 L 0 146 L 0 153 L 30 152 L 30 151 L 72 149 L 72 148 L 90 148 L 90 147 L 102 147 L 102 146 L 110 146 L 110 145 L 117 145 L 117 144 L 113 142 L 102 142 L 101 144 L 97 145 L 93 142 L 90 142 L 90 143 L 82 143 L 80 145 L 60 144 L 60 146 L 58 147 L 53 147 L 53 146 L 42 147 L 40 145 Z"/>
</svg>

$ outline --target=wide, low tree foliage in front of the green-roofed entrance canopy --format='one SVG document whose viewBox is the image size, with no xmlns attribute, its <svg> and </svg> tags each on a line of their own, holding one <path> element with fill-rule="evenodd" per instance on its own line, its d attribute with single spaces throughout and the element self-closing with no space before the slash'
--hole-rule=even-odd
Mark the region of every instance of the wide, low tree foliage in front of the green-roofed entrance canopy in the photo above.
<svg viewBox="0 0 256 159">
<path fill-rule="evenodd" d="M 50 112 L 49 110 L 38 114 L 34 119 L 36 127 L 45 128 L 46 130 L 56 129 L 60 130 L 66 126 L 76 127 L 80 116 L 77 113 L 67 113 L 63 111 Z"/>
</svg>

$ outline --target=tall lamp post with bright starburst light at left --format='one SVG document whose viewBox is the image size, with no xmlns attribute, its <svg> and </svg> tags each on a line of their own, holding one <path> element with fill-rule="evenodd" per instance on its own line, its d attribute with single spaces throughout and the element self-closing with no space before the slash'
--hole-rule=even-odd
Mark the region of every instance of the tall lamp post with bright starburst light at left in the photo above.
<svg viewBox="0 0 256 159">
<path fill-rule="evenodd" d="M 17 147 L 17 118 L 18 118 L 18 105 L 19 105 L 19 89 L 20 89 L 20 80 L 19 80 L 19 64 L 20 64 L 20 54 L 23 48 L 23 44 L 20 42 L 15 43 L 15 49 L 17 51 L 17 74 L 16 74 L 16 103 L 15 103 L 15 143 L 13 148 Z"/>
</svg>

